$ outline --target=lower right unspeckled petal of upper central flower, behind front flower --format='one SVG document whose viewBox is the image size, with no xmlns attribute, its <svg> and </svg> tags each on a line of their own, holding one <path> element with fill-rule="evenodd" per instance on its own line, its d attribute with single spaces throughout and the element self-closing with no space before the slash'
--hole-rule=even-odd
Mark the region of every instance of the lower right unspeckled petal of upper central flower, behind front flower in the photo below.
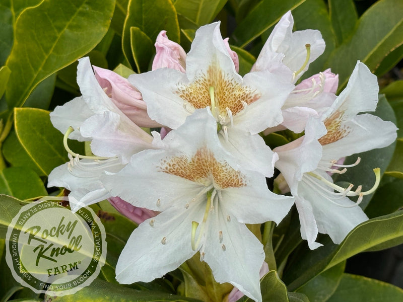
<svg viewBox="0 0 403 302">
<path fill-rule="evenodd" d="M 229 127 L 228 140 L 223 131 L 219 137 L 223 147 L 239 161 L 243 169 L 257 171 L 266 177 L 273 176 L 277 156 L 260 135 Z"/>
</svg>

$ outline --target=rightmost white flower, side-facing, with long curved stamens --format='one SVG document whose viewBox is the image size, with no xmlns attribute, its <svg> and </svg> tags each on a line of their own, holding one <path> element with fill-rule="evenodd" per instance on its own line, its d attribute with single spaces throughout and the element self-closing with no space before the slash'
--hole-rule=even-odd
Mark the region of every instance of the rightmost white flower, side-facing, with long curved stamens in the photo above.
<svg viewBox="0 0 403 302">
<path fill-rule="evenodd" d="M 378 85 L 375 75 L 367 66 L 357 62 L 346 89 L 320 121 L 311 119 L 305 135 L 289 144 L 275 148 L 279 154 L 276 163 L 291 194 L 301 222 L 301 236 L 311 249 L 318 233 L 328 234 L 334 243 L 341 243 L 359 223 L 368 219 L 362 209 L 348 197 L 363 195 L 376 189 L 380 180 L 379 169 L 374 169 L 376 181 L 373 189 L 362 191 L 361 186 L 341 188 L 333 184 L 326 172 L 344 173 L 356 166 L 338 165 L 340 158 L 374 148 L 382 148 L 396 139 L 396 126 L 371 114 L 378 102 Z M 334 168 L 344 168 L 336 170 Z M 334 192 L 335 191 L 335 192 Z"/>
</svg>

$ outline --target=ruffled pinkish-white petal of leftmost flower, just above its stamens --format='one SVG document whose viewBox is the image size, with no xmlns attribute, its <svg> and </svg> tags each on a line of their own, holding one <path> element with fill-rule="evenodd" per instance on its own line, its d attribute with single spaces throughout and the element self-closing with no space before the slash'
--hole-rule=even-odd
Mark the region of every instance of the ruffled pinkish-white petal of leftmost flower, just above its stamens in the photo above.
<svg viewBox="0 0 403 302">
<path fill-rule="evenodd" d="M 88 118 L 80 130 L 84 137 L 92 139 L 91 150 L 95 155 L 117 156 L 126 164 L 133 154 L 154 148 L 151 143 L 153 137 L 134 123 L 132 128 L 126 128 L 124 132 L 119 129 L 120 121 L 118 114 L 105 111 Z"/>
</svg>

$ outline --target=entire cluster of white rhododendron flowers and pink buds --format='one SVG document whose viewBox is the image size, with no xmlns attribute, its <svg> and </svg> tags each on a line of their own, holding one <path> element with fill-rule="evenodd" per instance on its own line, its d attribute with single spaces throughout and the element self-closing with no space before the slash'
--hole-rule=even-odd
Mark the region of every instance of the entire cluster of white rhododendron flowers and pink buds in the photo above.
<svg viewBox="0 0 403 302">
<path fill-rule="evenodd" d="M 396 127 L 360 114 L 378 101 L 376 77 L 361 62 L 338 96 L 330 69 L 300 81 L 325 43 L 293 24 L 288 12 L 244 77 L 219 22 L 200 27 L 187 54 L 161 32 L 152 71 L 128 79 L 80 59 L 82 96 L 51 113 L 71 161 L 53 170 L 49 186 L 71 191 L 72 210 L 108 199 L 139 224 L 117 281 L 152 281 L 197 254 L 217 282 L 237 288 L 231 299 L 261 301 L 267 264 L 246 224 L 279 224 L 295 203 L 301 237 L 316 249 L 318 233 L 339 244 L 368 219 L 359 203 L 379 184 L 379 169 L 366 190 L 340 187 L 329 173 L 359 164 L 341 158 L 392 143 Z M 262 136 L 279 130 L 301 134 L 272 149 Z M 68 138 L 90 142 L 92 154 L 74 153 Z M 288 196 L 268 189 L 274 176 Z"/>
</svg>

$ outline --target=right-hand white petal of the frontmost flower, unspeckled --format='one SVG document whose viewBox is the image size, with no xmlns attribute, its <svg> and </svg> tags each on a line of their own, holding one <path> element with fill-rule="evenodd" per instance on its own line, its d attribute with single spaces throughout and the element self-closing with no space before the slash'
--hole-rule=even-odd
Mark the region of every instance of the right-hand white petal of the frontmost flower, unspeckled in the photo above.
<svg viewBox="0 0 403 302">
<path fill-rule="evenodd" d="M 277 224 L 290 211 L 294 197 L 277 195 L 267 189 L 266 179 L 258 173 L 248 173 L 245 187 L 226 188 L 220 194 L 222 206 L 239 222 Z"/>
</svg>

